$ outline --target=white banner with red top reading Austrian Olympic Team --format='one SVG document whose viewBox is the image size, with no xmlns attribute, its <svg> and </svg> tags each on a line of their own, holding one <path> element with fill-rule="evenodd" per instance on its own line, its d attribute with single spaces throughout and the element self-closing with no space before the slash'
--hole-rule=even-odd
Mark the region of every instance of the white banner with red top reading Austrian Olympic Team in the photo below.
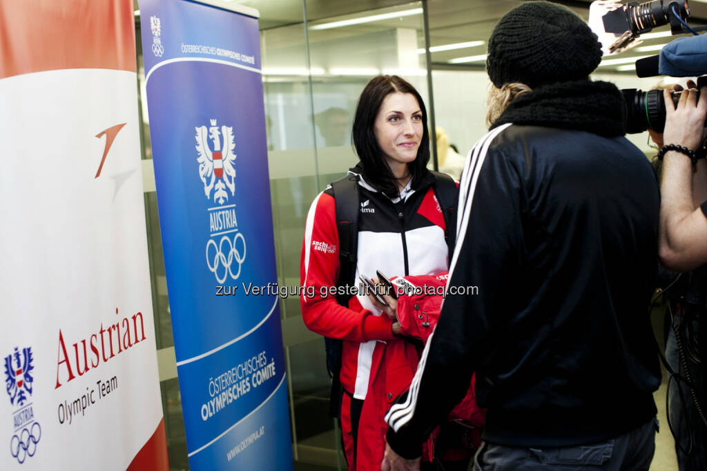
<svg viewBox="0 0 707 471">
<path fill-rule="evenodd" d="M 166 469 L 132 1 L 33 3 L 0 0 L 41 51 L 0 55 L 0 469 Z"/>
</svg>

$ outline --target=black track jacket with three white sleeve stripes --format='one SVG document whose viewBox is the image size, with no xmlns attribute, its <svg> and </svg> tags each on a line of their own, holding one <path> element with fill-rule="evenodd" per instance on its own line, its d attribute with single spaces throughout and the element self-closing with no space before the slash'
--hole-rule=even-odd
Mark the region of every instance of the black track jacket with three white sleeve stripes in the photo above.
<svg viewBox="0 0 707 471">
<path fill-rule="evenodd" d="M 493 443 L 592 443 L 654 417 L 659 205 L 648 160 L 623 136 L 504 124 L 482 138 L 460 184 L 448 285 L 478 294 L 446 297 L 386 415 L 393 450 L 418 456 L 474 371 Z"/>
</svg>

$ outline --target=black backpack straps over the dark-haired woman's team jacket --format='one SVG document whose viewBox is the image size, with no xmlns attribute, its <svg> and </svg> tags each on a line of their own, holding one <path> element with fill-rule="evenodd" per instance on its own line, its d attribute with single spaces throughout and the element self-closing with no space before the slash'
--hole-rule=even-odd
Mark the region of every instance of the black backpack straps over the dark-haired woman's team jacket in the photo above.
<svg viewBox="0 0 707 471">
<path fill-rule="evenodd" d="M 442 208 L 442 214 L 447 229 L 445 242 L 448 247 L 448 259 L 452 261 L 457 230 L 457 184 L 447 174 L 431 172 L 435 177 L 433 190 L 437 201 Z M 358 253 L 358 175 L 346 175 L 332 182 L 334 202 L 337 215 L 337 232 L 339 233 L 339 279 L 337 286 L 354 286 L 356 284 L 356 254 Z M 349 290 L 346 290 L 349 291 Z M 337 302 L 341 306 L 349 307 L 351 294 L 337 294 Z M 327 372 L 332 378 L 332 390 L 329 395 L 329 415 L 339 417 L 339 398 L 341 396 L 341 339 L 324 338 L 327 351 Z"/>
</svg>

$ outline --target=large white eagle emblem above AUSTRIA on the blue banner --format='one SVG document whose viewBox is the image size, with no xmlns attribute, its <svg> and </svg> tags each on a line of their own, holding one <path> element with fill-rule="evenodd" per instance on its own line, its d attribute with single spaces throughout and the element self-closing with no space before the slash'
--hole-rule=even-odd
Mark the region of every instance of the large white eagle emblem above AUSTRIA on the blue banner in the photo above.
<svg viewBox="0 0 707 471">
<path fill-rule="evenodd" d="M 235 142 L 233 128 L 219 126 L 216 119 L 211 119 L 211 126 L 200 126 L 197 130 L 197 152 L 199 157 L 199 177 L 204 183 L 206 198 L 211 199 L 214 190 L 214 202 L 223 204 L 228 200 L 228 191 L 235 195 Z M 209 145 L 211 141 L 212 145 Z"/>
</svg>

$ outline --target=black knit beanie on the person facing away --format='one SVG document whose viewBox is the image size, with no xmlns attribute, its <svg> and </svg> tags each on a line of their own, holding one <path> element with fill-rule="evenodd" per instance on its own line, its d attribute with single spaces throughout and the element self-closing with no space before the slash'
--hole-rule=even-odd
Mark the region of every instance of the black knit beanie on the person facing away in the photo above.
<svg viewBox="0 0 707 471">
<path fill-rule="evenodd" d="M 493 85 L 537 88 L 587 78 L 602 60 L 602 47 L 587 23 L 565 6 L 526 1 L 498 21 L 488 54 Z"/>
</svg>

